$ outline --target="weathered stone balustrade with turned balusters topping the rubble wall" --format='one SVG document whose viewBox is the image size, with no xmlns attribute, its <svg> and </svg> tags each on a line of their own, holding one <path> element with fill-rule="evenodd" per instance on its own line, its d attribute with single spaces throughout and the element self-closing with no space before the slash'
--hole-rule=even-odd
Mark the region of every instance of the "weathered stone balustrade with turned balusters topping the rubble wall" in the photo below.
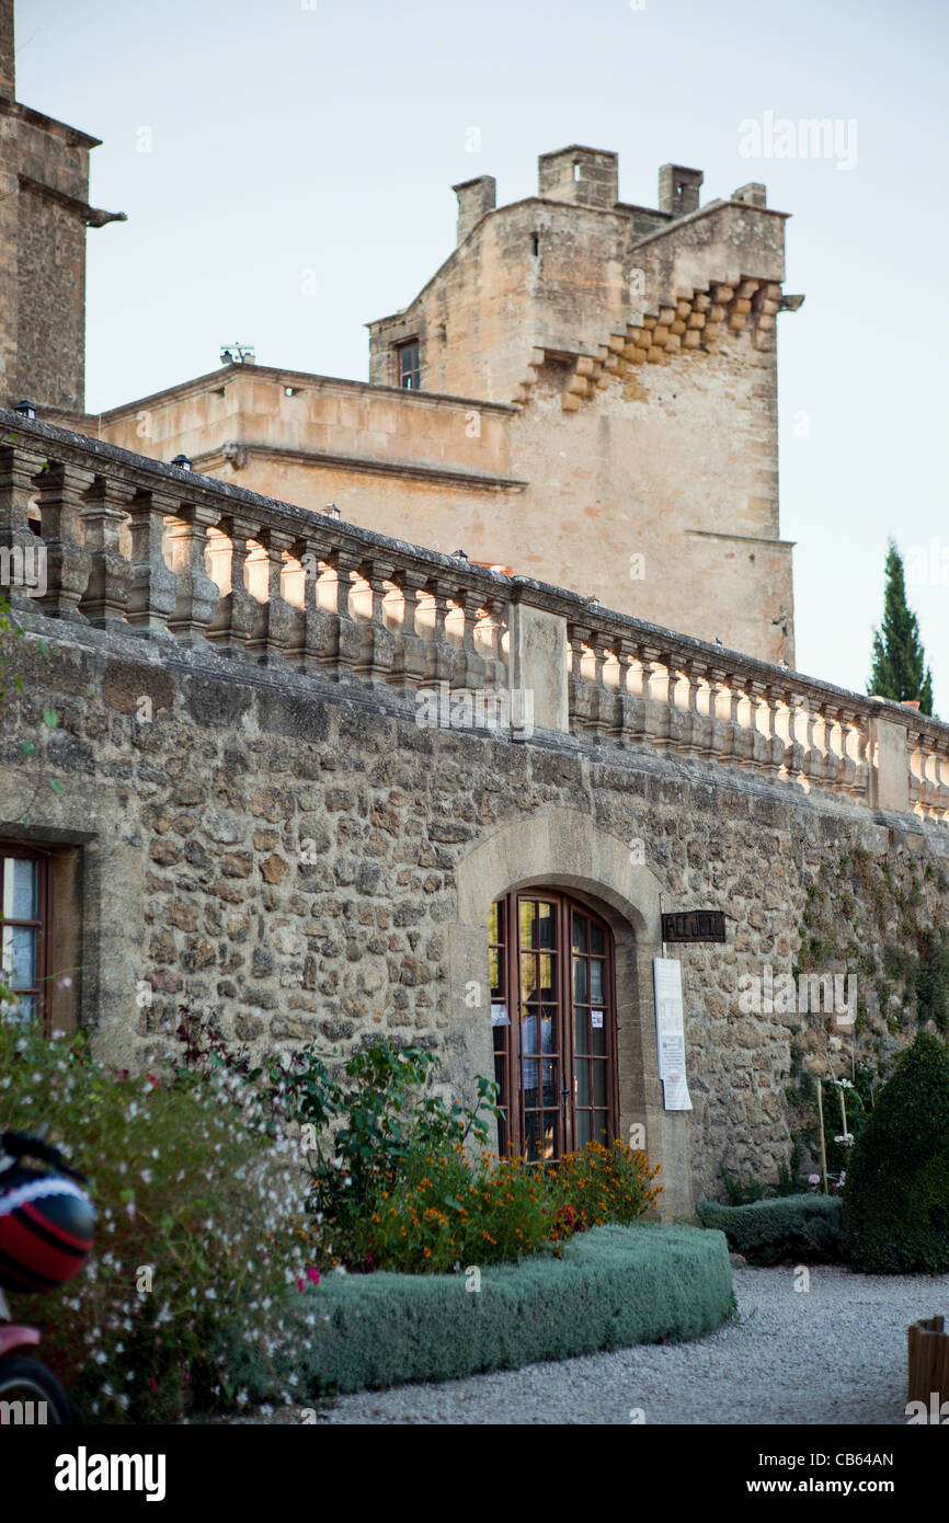
<svg viewBox="0 0 949 1523">
<path fill-rule="evenodd" d="M 521 713 L 579 745 L 949 825 L 940 720 L 3 410 L 0 573 L 21 623 L 376 691 L 530 693 Z"/>
</svg>

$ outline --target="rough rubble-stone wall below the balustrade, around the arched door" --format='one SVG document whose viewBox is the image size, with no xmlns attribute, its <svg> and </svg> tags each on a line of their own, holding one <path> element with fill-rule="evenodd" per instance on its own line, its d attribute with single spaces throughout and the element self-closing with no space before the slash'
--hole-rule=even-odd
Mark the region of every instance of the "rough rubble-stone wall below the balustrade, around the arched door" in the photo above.
<svg viewBox="0 0 949 1523">
<path fill-rule="evenodd" d="M 888 827 L 646 748 L 427 730 L 391 699 L 213 666 L 91 631 L 18 658 L 27 698 L 5 722 L 3 835 L 23 835 L 30 800 L 29 838 L 81 854 L 81 1019 L 102 1049 L 158 1062 L 186 1002 L 254 1051 L 430 1043 L 465 1086 L 490 1071 L 486 932 L 472 938 L 465 905 L 561 883 L 617 934 L 621 1125 L 646 1124 L 666 1205 L 687 1209 L 722 1162 L 777 1173 L 800 1017 L 740 1014 L 737 978 L 788 969 L 820 860 L 855 844 L 885 857 Z M 58 725 L 24 758 L 44 705 Z M 61 795 L 34 797 L 44 774 Z M 920 862 L 949 860 L 946 832 L 909 816 L 896 829 Z M 734 917 L 725 947 L 679 952 L 689 1116 L 663 1113 L 657 1077 L 660 892 L 667 909 Z M 480 1008 L 465 999 L 472 978 Z"/>
</svg>

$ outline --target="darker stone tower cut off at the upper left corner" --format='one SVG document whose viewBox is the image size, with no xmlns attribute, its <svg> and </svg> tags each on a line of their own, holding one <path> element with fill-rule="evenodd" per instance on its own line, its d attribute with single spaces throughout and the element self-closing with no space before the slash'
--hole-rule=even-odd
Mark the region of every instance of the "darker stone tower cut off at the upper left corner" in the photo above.
<svg viewBox="0 0 949 1523">
<path fill-rule="evenodd" d="M 82 413 L 85 228 L 97 137 L 17 102 L 14 0 L 0 0 L 0 402 Z"/>
</svg>

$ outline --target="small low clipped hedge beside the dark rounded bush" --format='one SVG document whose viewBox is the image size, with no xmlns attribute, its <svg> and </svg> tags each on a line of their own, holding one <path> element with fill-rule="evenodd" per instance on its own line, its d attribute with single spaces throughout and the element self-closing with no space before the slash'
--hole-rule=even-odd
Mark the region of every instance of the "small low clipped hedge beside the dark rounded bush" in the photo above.
<svg viewBox="0 0 949 1523">
<path fill-rule="evenodd" d="M 835 1196 L 778 1196 L 748 1206 L 702 1200 L 696 1214 L 702 1226 L 724 1232 L 728 1246 L 752 1264 L 844 1256 L 841 1202 Z"/>
</svg>

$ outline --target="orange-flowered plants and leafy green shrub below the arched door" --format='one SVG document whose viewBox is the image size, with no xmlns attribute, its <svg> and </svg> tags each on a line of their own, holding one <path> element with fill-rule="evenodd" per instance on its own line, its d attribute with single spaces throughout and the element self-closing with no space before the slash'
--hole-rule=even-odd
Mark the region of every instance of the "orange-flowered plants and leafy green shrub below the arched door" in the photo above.
<svg viewBox="0 0 949 1523">
<path fill-rule="evenodd" d="M 300 1054 L 296 1066 L 309 1084 L 312 1060 Z M 346 1065 L 349 1089 L 320 1081 L 320 1110 L 343 1116 L 314 1153 L 323 1267 L 446 1273 L 512 1263 L 545 1247 L 559 1253 L 574 1232 L 632 1223 L 655 1203 L 658 1170 L 625 1142 L 547 1167 L 497 1157 L 484 1145 L 495 1086 L 480 1078 L 472 1109 L 448 1106 L 417 1092 L 434 1066 L 428 1052 L 378 1043 Z"/>
</svg>

